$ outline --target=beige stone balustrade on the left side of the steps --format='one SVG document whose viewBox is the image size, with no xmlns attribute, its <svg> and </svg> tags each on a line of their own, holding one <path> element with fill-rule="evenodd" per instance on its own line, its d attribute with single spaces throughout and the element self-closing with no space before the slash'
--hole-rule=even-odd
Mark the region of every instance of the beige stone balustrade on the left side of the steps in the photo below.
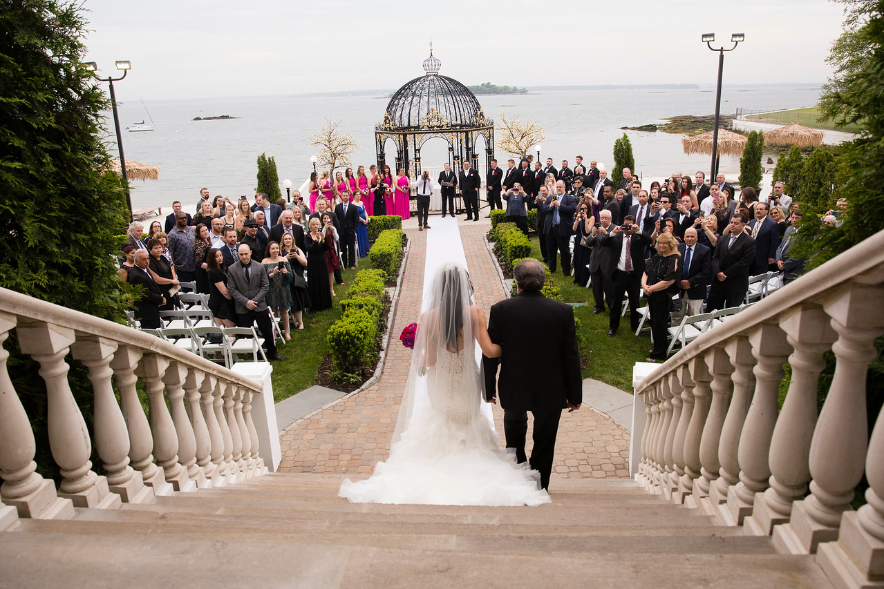
<svg viewBox="0 0 884 589">
<path fill-rule="evenodd" d="M 58 488 L 37 473 L 34 431 L 7 371 L 13 330 L 46 386 Z M 67 379 L 69 357 L 92 384 L 92 436 Z M 72 517 L 74 507 L 115 509 L 266 472 L 252 422 L 262 393 L 261 382 L 154 336 L 0 289 L 0 529 L 16 516 Z"/>
</svg>

